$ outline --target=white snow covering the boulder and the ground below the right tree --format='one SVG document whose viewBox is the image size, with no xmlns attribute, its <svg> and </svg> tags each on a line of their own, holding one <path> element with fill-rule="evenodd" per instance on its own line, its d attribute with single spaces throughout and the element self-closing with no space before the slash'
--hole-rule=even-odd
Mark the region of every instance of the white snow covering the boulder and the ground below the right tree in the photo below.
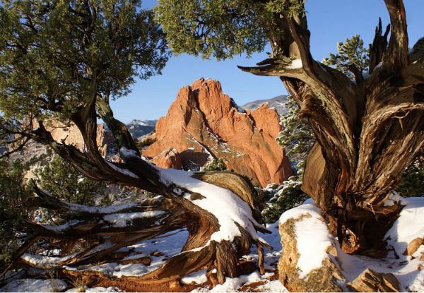
<svg viewBox="0 0 424 293">
<path fill-rule="evenodd" d="M 385 235 L 389 246 L 394 248 L 396 254 L 389 251 L 384 259 L 344 253 L 338 241 L 329 234 L 324 222 L 319 220 L 322 219 L 321 211 L 313 205 L 312 200 L 283 213 L 280 222 L 300 217 L 306 213 L 312 216 L 298 222 L 295 226 L 296 231 L 302 231 L 302 233 L 297 233 L 300 252 L 298 268 L 303 273 L 300 275 L 305 275 L 305 272 L 309 272 L 313 268 L 319 268 L 322 259 L 326 256 L 325 249 L 332 242 L 336 244 L 338 261 L 347 282 L 354 280 L 366 268 L 371 268 L 379 273 L 394 274 L 401 283 L 401 291 L 424 292 L 424 270 L 418 270 L 418 265 L 424 265 L 424 261 L 420 261 L 420 256 L 424 253 L 424 245 L 420 246 L 412 257 L 403 255 L 406 246 L 413 239 L 424 237 L 424 197 L 401 198 L 395 194 L 386 204 L 391 205 L 393 201 L 400 201 L 405 207 L 398 220 Z M 302 261 L 302 258 L 307 258 L 307 262 Z"/>
</svg>

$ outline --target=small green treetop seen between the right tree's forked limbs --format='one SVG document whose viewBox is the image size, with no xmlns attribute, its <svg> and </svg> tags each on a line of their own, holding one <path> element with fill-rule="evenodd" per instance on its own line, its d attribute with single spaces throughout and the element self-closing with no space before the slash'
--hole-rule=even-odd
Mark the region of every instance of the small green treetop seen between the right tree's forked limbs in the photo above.
<svg viewBox="0 0 424 293">
<path fill-rule="evenodd" d="M 338 54 L 330 53 L 329 58 L 324 58 L 322 63 L 328 66 L 334 66 L 338 71 L 343 72 L 353 80 L 355 76 L 350 69 L 354 65 L 360 73 L 367 71 L 370 56 L 368 49 L 364 47 L 363 40 L 359 35 L 353 35 L 351 39 L 346 39 L 346 42 L 337 43 Z"/>
</svg>

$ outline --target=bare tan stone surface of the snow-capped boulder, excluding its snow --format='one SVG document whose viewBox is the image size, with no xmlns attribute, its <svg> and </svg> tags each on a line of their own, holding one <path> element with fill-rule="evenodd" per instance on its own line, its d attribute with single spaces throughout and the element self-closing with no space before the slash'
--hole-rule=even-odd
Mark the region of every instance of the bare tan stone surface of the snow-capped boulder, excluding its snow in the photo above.
<svg viewBox="0 0 424 293">
<path fill-rule="evenodd" d="M 278 273 L 280 281 L 290 292 L 343 292 L 338 285 L 343 282 L 343 275 L 338 266 L 331 258 L 336 259 L 337 251 L 334 246 L 329 245 L 326 249 L 327 257 L 319 268 L 312 269 L 305 277 L 300 277 L 298 262 L 300 253 L 298 251 L 298 235 L 296 224 L 312 217 L 309 213 L 300 217 L 290 218 L 283 223 L 279 223 L 278 229 L 281 236 L 281 258 L 278 261 Z M 320 219 L 321 220 L 321 219 Z M 322 218 L 322 221 L 324 219 Z M 301 233 L 301 232 L 300 232 Z M 313 251 L 316 249 L 311 246 Z"/>
</svg>

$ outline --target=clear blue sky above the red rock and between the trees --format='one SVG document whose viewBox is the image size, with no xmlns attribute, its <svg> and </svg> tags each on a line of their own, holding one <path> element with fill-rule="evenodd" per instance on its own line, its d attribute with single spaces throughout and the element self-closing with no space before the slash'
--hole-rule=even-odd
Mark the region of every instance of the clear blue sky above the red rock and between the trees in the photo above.
<svg viewBox="0 0 424 293">
<path fill-rule="evenodd" d="M 143 6 L 150 8 L 156 3 L 155 0 L 143 1 Z M 404 0 L 404 3 L 409 46 L 412 47 L 424 37 L 424 0 Z M 379 17 L 384 28 L 389 23 L 383 0 L 308 0 L 306 10 L 311 51 L 316 60 L 336 52 L 336 43 L 352 35 L 360 35 L 365 44 L 372 42 Z M 200 77 L 219 80 L 224 92 L 237 104 L 287 94 L 278 78 L 254 76 L 237 68 L 237 65 L 254 65 L 266 57 L 262 52 L 251 59 L 236 56 L 218 62 L 187 54 L 171 56 L 162 75 L 136 82 L 127 97 L 112 102 L 112 109 L 117 119 L 124 123 L 132 119 L 158 119 L 166 114 L 179 88 Z"/>
</svg>

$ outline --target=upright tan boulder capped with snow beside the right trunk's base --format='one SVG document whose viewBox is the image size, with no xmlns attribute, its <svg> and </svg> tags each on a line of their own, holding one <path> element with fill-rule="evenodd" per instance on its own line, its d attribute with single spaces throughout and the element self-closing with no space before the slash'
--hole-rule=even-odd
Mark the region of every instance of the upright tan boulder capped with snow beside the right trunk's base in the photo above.
<svg viewBox="0 0 424 293">
<path fill-rule="evenodd" d="M 334 239 L 319 208 L 308 204 L 288 210 L 281 216 L 279 231 L 283 250 L 278 273 L 290 292 L 343 291 L 338 284 L 344 278 L 334 263 L 337 257 Z"/>
</svg>

